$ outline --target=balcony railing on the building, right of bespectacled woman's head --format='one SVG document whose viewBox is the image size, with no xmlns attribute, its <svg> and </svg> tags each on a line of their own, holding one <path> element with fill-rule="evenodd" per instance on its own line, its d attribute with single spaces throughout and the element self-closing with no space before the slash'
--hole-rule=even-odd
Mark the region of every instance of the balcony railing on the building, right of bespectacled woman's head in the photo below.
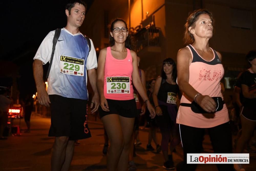
<svg viewBox="0 0 256 171">
<path fill-rule="evenodd" d="M 158 27 L 145 27 L 132 34 L 134 40 L 134 51 L 140 50 L 150 46 L 160 46 L 160 32 Z"/>
</svg>

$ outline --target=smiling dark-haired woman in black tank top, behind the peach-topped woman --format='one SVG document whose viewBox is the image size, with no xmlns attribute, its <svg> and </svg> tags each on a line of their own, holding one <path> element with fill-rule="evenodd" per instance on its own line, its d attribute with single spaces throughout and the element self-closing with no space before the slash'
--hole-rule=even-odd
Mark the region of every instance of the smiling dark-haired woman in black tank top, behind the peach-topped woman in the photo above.
<svg viewBox="0 0 256 171">
<path fill-rule="evenodd" d="M 173 59 L 167 58 L 163 61 L 162 75 L 156 79 L 153 91 L 153 100 L 156 108 L 156 121 L 159 125 L 162 141 L 161 149 L 164 156 L 163 168 L 174 169 L 172 155 L 168 156 L 168 143 L 170 136 L 170 152 L 180 143 L 179 129 L 176 124 L 177 116 L 177 94 L 179 87 L 176 83 L 177 70 Z"/>
</svg>

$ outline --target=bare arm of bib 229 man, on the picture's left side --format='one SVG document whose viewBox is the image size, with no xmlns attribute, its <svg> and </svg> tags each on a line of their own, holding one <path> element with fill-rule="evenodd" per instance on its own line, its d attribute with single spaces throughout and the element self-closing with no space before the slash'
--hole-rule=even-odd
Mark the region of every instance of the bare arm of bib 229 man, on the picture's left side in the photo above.
<svg viewBox="0 0 256 171">
<path fill-rule="evenodd" d="M 33 62 L 33 73 L 36 82 L 37 99 L 41 105 L 49 107 L 50 99 L 45 89 L 43 80 L 43 62 L 39 59 L 35 59 Z"/>
</svg>

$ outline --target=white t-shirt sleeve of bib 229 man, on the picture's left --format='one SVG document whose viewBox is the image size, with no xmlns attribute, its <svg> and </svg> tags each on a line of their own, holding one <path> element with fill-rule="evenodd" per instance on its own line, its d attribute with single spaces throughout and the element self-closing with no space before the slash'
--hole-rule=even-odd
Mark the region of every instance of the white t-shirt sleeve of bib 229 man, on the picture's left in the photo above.
<svg viewBox="0 0 256 171">
<path fill-rule="evenodd" d="M 52 40 L 54 37 L 54 33 L 55 33 L 55 30 L 50 31 L 48 35 L 44 38 L 44 40 L 42 41 L 41 45 L 39 46 L 36 52 L 34 60 L 39 59 L 42 62 L 44 62 L 44 64 L 50 61 L 51 51 L 52 51 Z"/>
</svg>

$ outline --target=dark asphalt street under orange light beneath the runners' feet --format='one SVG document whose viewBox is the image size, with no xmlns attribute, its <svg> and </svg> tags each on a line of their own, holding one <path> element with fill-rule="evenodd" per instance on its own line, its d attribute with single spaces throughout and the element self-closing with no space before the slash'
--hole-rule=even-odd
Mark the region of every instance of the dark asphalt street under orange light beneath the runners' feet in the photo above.
<svg viewBox="0 0 256 171">
<path fill-rule="evenodd" d="M 89 128 L 92 137 L 80 140 L 80 145 L 75 147 L 74 157 L 70 170 L 106 170 L 106 156 L 102 155 L 103 125 L 99 119 L 93 121 L 89 116 Z M 19 124 L 19 120 L 15 120 Z M 48 137 L 50 119 L 39 116 L 31 117 L 31 133 L 23 133 L 20 136 L 8 137 L 8 140 L 0 140 L 0 170 L 50 170 L 50 154 L 54 138 Z M 21 129 L 26 129 L 24 120 L 21 120 Z M 140 130 L 139 136 L 142 144 L 137 146 L 137 156 L 134 158 L 137 170 L 165 170 L 162 168 L 162 154 L 146 151 L 148 129 Z M 158 141 L 161 134 L 157 133 Z M 152 141 L 152 146 L 155 144 Z M 209 136 L 205 135 L 203 143 L 204 151 L 212 153 L 212 146 Z M 176 147 L 173 153 L 175 165 L 182 161 L 182 146 Z M 250 164 L 245 165 L 246 170 L 256 170 L 256 155 L 250 153 Z M 214 171 L 217 167 L 214 164 L 200 164 L 197 170 Z"/>
</svg>

